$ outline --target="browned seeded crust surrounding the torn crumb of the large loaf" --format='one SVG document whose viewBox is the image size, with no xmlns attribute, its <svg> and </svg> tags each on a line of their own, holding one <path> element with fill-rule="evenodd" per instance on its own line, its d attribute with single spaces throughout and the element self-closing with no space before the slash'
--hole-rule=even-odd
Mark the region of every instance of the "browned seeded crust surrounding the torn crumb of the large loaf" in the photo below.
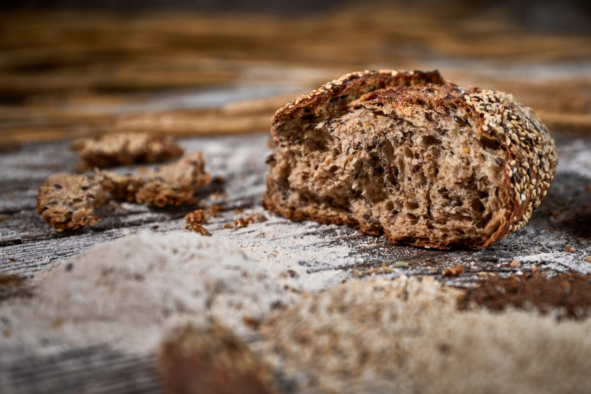
<svg viewBox="0 0 591 394">
<path fill-rule="evenodd" d="M 394 76 L 396 80 L 389 79 Z M 508 236 L 527 223 L 541 203 L 556 170 L 557 154 L 550 131 L 545 128 L 532 110 L 511 95 L 491 90 L 468 89 L 454 84 L 445 84 L 439 73 L 422 73 L 414 71 L 371 71 L 352 73 L 341 77 L 342 84 L 333 87 L 332 92 L 304 95 L 283 106 L 273 117 L 271 133 L 275 139 L 281 132 L 281 126 L 296 112 L 307 108 L 314 112 L 319 106 L 325 105 L 332 97 L 351 93 L 359 87 L 381 86 L 381 84 L 401 83 L 401 87 L 377 89 L 361 96 L 355 103 L 382 103 L 383 105 L 403 108 L 409 105 L 428 105 L 441 111 L 457 108 L 468 114 L 470 130 L 475 138 L 486 138 L 495 141 L 506 152 L 503 168 L 503 180 L 507 200 L 504 201 L 508 214 L 503 218 L 498 229 L 480 242 L 447 243 L 414 240 L 400 242 L 388 237 L 391 243 L 410 243 L 425 248 L 450 249 L 453 246 L 467 246 L 485 249 L 498 240 Z M 335 81 L 326 84 L 335 85 Z M 416 86 L 420 85 L 420 86 Z M 408 87 L 415 86 L 415 87 Z M 319 88 L 320 89 L 320 88 Z M 315 89 L 312 92 L 319 92 Z M 310 98 L 309 98 L 310 96 Z M 436 97 L 433 99 L 433 97 Z M 450 114 L 453 116 L 453 114 Z M 296 115 L 297 116 L 297 115 Z M 275 211 L 291 220 L 314 220 L 319 223 L 346 224 L 356 227 L 361 233 L 378 235 L 383 232 L 381 226 L 363 226 L 358 220 L 345 213 L 323 214 L 304 210 L 293 210 L 290 207 L 278 206 L 272 198 L 271 174 L 267 178 L 267 193 L 263 197 L 265 209 Z"/>
</svg>

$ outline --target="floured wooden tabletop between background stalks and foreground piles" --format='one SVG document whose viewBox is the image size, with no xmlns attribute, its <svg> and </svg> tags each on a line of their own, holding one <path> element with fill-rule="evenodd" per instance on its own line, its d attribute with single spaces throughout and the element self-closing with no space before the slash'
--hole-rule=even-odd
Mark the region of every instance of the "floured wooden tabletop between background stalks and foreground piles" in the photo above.
<svg viewBox="0 0 591 394">
<path fill-rule="evenodd" d="M 543 205 L 522 230 L 486 250 L 439 251 L 394 246 L 383 237 L 361 235 L 349 227 L 314 222 L 290 222 L 261 209 L 268 154 L 266 135 L 181 140 L 188 152 L 202 150 L 215 183 L 199 192 L 207 205 L 226 211 L 205 226 L 214 237 L 236 240 L 255 260 L 275 259 L 303 266 L 308 272 L 369 268 L 407 262 L 407 275 L 437 275 L 444 268 L 466 265 L 467 272 L 509 271 L 499 265 L 519 259 L 563 271 L 591 271 L 584 258 L 591 254 L 591 139 L 558 134 L 556 180 Z M 55 232 L 35 213 L 37 187 L 53 172 L 70 171 L 76 155 L 66 142 L 27 144 L 0 156 L 0 272 L 34 275 L 48 263 L 66 259 L 99 242 L 151 229 L 166 232 L 184 228 L 184 214 L 197 206 L 153 209 L 132 203 L 112 203 L 99 210 L 97 226 L 75 232 Z M 126 172 L 130 167 L 120 168 Z M 227 196 L 227 197 L 226 197 Z M 242 229 L 221 229 L 241 217 L 233 209 L 264 212 L 268 221 Z M 574 252 L 566 252 L 572 246 Z M 433 272 L 434 271 L 434 272 Z M 460 278 L 473 280 L 475 278 Z"/>
</svg>

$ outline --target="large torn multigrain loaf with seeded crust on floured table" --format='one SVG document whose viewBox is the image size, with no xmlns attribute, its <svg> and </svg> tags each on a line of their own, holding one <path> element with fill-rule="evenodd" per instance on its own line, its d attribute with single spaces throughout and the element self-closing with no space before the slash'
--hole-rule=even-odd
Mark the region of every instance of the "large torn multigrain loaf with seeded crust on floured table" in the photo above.
<svg viewBox="0 0 591 394">
<path fill-rule="evenodd" d="M 272 122 L 264 206 L 391 243 L 487 248 L 527 223 L 556 170 L 530 108 L 437 71 L 347 74 Z"/>
</svg>

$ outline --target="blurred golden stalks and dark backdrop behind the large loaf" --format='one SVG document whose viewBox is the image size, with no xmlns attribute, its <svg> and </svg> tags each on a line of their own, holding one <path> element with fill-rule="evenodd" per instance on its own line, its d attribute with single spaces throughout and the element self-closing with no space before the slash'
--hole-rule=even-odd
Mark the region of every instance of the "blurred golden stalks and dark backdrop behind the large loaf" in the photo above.
<svg viewBox="0 0 591 394">
<path fill-rule="evenodd" d="M 268 132 L 350 71 L 439 69 L 591 130 L 591 2 L 8 0 L 0 142 Z"/>
</svg>

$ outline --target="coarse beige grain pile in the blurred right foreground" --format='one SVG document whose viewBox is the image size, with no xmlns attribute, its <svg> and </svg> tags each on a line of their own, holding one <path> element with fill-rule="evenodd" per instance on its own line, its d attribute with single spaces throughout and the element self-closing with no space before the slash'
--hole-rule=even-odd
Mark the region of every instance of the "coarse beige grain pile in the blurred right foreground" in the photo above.
<svg viewBox="0 0 591 394">
<path fill-rule="evenodd" d="M 262 324 L 259 353 L 300 393 L 589 393 L 591 320 L 456 308 L 422 281 L 350 281 Z"/>
</svg>

